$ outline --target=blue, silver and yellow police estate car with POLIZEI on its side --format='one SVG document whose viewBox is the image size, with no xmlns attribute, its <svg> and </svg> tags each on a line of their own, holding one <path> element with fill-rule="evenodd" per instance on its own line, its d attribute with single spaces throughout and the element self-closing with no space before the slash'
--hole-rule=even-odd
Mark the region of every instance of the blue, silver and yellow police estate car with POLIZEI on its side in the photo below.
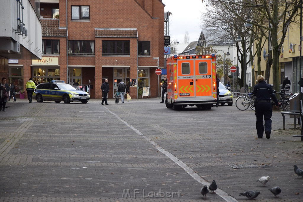
<svg viewBox="0 0 303 202">
<path fill-rule="evenodd" d="M 87 103 L 90 96 L 85 91 L 80 91 L 66 84 L 64 81 L 52 80 L 51 83 L 42 83 L 36 86 L 33 98 L 37 102 L 55 101 L 55 103 L 82 102 Z"/>
</svg>

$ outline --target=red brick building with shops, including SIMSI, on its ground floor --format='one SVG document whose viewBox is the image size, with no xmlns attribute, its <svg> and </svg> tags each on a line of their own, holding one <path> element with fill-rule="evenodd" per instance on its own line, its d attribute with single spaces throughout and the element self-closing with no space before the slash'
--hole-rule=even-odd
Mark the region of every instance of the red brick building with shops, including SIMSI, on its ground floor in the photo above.
<svg viewBox="0 0 303 202">
<path fill-rule="evenodd" d="M 23 83 L 30 77 L 36 83 L 64 80 L 90 88 L 91 98 L 100 99 L 105 79 L 108 98 L 121 79 L 134 85 L 128 87 L 132 98 L 144 86 L 150 86 L 151 97 L 158 96 L 153 58 L 164 66 L 161 0 L 40 0 L 40 15 L 42 59 L 10 64 L 23 68 Z"/>
</svg>

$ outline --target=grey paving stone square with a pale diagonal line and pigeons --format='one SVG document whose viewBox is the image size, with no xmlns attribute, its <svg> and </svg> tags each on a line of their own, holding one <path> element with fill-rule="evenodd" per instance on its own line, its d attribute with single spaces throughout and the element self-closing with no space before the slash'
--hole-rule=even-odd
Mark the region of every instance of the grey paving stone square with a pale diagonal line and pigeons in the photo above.
<svg viewBox="0 0 303 202">
<path fill-rule="evenodd" d="M 293 119 L 281 129 L 280 112 L 271 138 L 258 139 L 251 109 L 108 100 L 8 102 L 0 112 L 0 201 L 201 201 L 213 179 L 219 189 L 208 201 L 245 201 L 245 190 L 261 192 L 255 201 L 302 201 L 293 165 L 303 169 L 303 142 L 292 137 L 300 134 Z M 261 176 L 270 176 L 265 187 Z"/>
</svg>

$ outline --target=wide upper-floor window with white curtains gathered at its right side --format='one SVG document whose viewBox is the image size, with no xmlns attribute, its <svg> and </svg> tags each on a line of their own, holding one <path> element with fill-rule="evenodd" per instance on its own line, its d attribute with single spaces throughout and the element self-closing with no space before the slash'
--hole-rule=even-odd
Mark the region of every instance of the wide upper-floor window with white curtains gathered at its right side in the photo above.
<svg viewBox="0 0 303 202">
<path fill-rule="evenodd" d="M 95 55 L 95 41 L 68 41 L 68 55 Z"/>
</svg>

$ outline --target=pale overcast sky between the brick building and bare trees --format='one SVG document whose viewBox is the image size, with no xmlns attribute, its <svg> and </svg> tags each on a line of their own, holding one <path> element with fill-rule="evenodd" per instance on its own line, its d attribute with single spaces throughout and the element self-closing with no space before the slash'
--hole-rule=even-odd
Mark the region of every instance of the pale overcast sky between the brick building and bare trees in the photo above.
<svg viewBox="0 0 303 202">
<path fill-rule="evenodd" d="M 162 3 L 165 5 L 164 11 L 172 13 L 168 18 L 171 42 L 176 39 L 183 43 L 185 31 L 189 34 L 190 42 L 198 41 L 201 11 L 205 3 L 201 0 L 162 0 Z"/>
</svg>

